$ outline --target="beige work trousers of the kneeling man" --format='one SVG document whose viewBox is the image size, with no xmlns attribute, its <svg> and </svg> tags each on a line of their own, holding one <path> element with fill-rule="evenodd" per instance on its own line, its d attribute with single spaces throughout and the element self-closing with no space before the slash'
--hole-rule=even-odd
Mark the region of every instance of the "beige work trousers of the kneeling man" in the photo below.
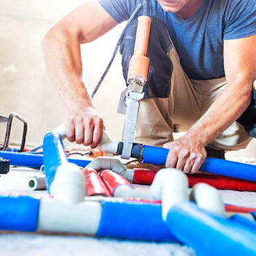
<svg viewBox="0 0 256 256">
<path fill-rule="evenodd" d="M 188 131 L 226 89 L 225 77 L 190 80 L 183 71 L 174 47 L 168 56 L 174 66 L 170 96 L 140 102 L 134 138 L 136 143 L 161 147 L 174 140 L 174 127 L 178 132 Z M 251 139 L 244 127 L 234 122 L 209 145 L 225 151 L 238 150 L 246 148 Z"/>
</svg>

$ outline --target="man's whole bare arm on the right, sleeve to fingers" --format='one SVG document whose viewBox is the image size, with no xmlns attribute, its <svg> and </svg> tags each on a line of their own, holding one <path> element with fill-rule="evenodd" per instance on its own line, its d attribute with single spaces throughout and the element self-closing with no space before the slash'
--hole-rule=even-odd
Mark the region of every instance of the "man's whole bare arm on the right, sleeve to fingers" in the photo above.
<svg viewBox="0 0 256 256">
<path fill-rule="evenodd" d="M 228 86 L 185 136 L 164 145 L 170 148 L 167 167 L 185 173 L 199 170 L 205 161 L 205 146 L 235 122 L 250 104 L 256 77 L 256 35 L 224 41 L 223 51 Z"/>
</svg>

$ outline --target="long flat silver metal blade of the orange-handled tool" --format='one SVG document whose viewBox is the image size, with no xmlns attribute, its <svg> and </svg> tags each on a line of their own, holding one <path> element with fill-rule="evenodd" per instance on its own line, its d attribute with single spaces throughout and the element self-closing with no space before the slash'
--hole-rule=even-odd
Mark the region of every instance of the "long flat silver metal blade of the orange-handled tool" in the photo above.
<svg viewBox="0 0 256 256">
<path fill-rule="evenodd" d="M 125 113 L 125 124 L 123 128 L 123 148 L 121 158 L 129 159 L 134 143 L 134 132 L 136 128 L 138 108 L 144 93 L 129 91 L 127 95 L 127 109 Z"/>
</svg>

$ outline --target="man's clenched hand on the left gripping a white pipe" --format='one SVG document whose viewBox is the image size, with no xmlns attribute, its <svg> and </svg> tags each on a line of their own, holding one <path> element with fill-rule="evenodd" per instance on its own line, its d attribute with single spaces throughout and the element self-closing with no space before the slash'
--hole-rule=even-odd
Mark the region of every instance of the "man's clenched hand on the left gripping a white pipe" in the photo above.
<svg viewBox="0 0 256 256">
<path fill-rule="evenodd" d="M 66 116 L 66 137 L 69 141 L 95 148 L 102 139 L 103 120 L 91 107 L 76 107 Z"/>
</svg>

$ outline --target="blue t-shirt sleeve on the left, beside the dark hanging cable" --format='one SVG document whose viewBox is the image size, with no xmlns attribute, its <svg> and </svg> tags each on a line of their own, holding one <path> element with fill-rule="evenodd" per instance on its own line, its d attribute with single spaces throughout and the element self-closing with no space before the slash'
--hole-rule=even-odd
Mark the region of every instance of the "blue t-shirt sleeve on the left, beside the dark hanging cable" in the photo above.
<svg viewBox="0 0 256 256">
<path fill-rule="evenodd" d="M 98 0 L 102 8 L 118 23 L 129 19 L 140 3 L 139 0 Z"/>
</svg>

